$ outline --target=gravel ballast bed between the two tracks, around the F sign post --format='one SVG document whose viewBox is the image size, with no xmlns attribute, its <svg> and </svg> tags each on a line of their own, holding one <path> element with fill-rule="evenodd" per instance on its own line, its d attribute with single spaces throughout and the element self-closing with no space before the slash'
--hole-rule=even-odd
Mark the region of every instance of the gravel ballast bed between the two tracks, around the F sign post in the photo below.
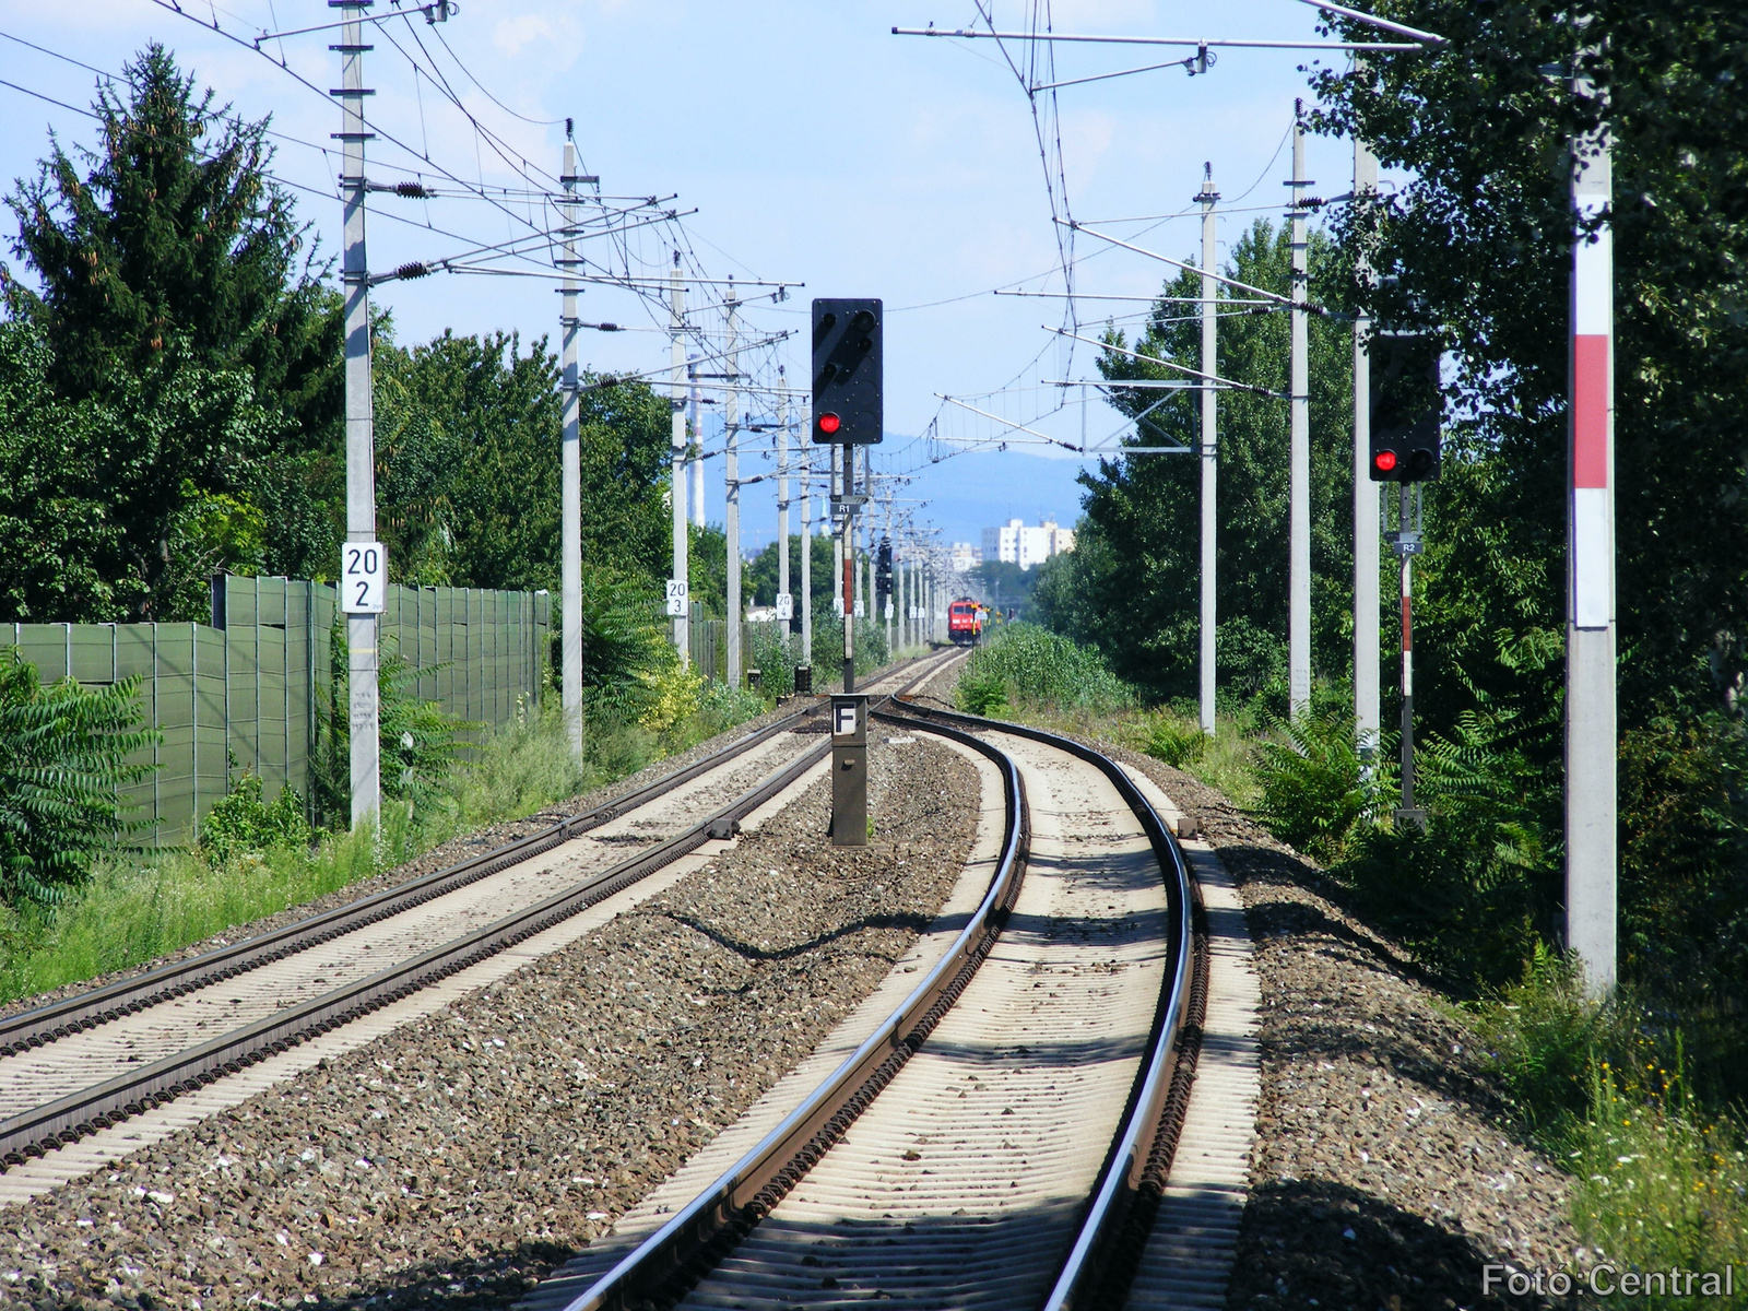
<svg viewBox="0 0 1748 1311">
<path fill-rule="evenodd" d="M 977 773 L 883 736 L 871 846 L 829 844 L 815 783 L 580 942 L 0 1211 L 0 1304 L 516 1301 L 811 1051 L 951 891 Z"/>
</svg>

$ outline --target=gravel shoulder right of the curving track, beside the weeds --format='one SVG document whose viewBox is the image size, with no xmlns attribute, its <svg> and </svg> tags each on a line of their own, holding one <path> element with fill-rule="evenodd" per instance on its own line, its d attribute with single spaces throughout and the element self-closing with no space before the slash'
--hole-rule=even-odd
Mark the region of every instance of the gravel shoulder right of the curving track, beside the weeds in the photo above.
<svg viewBox="0 0 1748 1311">
<path fill-rule="evenodd" d="M 954 678 L 926 689 L 951 704 Z M 1072 736 L 1072 734 L 1070 734 Z M 1152 757 L 1238 881 L 1262 989 L 1262 1098 L 1232 1311 L 1540 1306 L 1482 1269 L 1566 1269 L 1568 1176 L 1512 1127 L 1484 1049 L 1412 958 L 1309 858 Z"/>
</svg>

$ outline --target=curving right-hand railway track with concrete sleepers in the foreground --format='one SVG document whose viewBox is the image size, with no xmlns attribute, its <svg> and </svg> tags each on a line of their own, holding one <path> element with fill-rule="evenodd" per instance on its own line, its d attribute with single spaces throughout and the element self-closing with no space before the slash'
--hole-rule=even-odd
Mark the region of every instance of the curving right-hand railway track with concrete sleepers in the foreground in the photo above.
<svg viewBox="0 0 1748 1311">
<path fill-rule="evenodd" d="M 1087 746 L 879 718 L 1000 773 L 981 900 L 848 1056 L 750 1117 L 750 1150 L 706 1148 L 524 1311 L 1124 1302 L 1196 1065 L 1206 965 L 1183 853 Z"/>
</svg>

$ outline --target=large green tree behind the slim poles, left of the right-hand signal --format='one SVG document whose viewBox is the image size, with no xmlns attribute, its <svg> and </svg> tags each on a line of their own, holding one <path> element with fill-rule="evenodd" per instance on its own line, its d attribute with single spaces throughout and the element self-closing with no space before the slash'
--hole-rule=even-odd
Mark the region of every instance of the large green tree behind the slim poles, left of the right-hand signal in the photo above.
<svg viewBox="0 0 1748 1311">
<path fill-rule="evenodd" d="M 1287 294 L 1292 250 L 1287 229 L 1259 220 L 1232 243 L 1227 276 Z M 1313 301 L 1341 288 L 1342 260 L 1323 232 L 1311 234 Z M 1201 294 L 1201 278 L 1168 280 L 1164 297 Z M 1222 294 L 1222 302 L 1231 299 Z M 1285 313 L 1222 311 L 1218 369 L 1224 378 L 1287 392 L 1290 323 Z M 1110 344 L 1127 346 L 1122 332 Z M 1154 358 L 1197 367 L 1196 315 L 1155 302 L 1133 346 Z M 1348 668 L 1353 631 L 1351 404 L 1353 348 L 1342 323 L 1311 322 L 1311 614 L 1314 671 Z M 1183 381 L 1175 369 L 1117 351 L 1099 358 L 1117 386 L 1112 404 L 1138 423 L 1127 444 L 1185 446 L 1199 437 L 1199 393 L 1122 388 L 1126 379 Z M 1252 694 L 1285 673 L 1288 413 L 1276 395 L 1218 393 L 1218 614 L 1222 680 Z M 1049 561 L 1037 586 L 1045 622 L 1099 647 L 1112 668 L 1150 696 L 1187 696 L 1196 687 L 1201 470 L 1194 456 L 1101 460 L 1080 475 L 1087 488 L 1075 551 Z"/>
</svg>

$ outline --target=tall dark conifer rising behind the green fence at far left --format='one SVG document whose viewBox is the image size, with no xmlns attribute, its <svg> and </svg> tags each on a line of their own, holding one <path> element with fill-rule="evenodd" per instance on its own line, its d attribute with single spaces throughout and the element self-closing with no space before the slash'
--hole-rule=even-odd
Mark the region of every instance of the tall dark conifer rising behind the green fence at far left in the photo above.
<svg viewBox="0 0 1748 1311">
<path fill-rule="evenodd" d="M 196 93 L 161 45 L 128 65 L 126 96 L 100 84 L 93 110 L 98 147 L 75 161 L 51 142 L 7 198 L 37 285 L 0 281 L 47 346 L 40 383 L 80 409 L 63 491 L 114 530 L 112 558 L 73 572 L 107 580 L 103 617 L 198 617 L 212 568 L 308 572 L 334 542 L 337 297 L 267 178 L 266 122 Z M 91 617 L 52 600 L 30 598 L 33 614 Z"/>
</svg>

